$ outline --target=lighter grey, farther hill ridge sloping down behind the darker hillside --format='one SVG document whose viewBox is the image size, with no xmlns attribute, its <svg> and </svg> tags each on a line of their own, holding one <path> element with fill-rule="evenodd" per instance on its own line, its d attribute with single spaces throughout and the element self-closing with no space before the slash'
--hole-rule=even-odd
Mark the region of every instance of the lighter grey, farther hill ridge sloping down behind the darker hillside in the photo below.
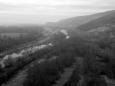
<svg viewBox="0 0 115 86">
<path fill-rule="evenodd" d="M 54 23 L 47 23 L 46 26 L 65 28 L 65 29 L 74 29 L 82 24 L 88 23 L 90 21 L 99 19 L 103 16 L 110 15 L 113 13 L 115 13 L 115 10 L 96 13 L 96 14 L 92 14 L 92 15 L 86 15 L 86 16 L 78 16 L 78 17 L 73 17 L 73 18 L 69 18 L 69 19 L 64 19 L 64 20 L 54 22 Z"/>
</svg>

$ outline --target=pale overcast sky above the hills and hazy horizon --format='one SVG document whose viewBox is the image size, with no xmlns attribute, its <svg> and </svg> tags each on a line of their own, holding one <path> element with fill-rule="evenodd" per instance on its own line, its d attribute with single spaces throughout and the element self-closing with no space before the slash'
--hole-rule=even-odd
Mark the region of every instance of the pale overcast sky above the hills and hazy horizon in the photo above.
<svg viewBox="0 0 115 86">
<path fill-rule="evenodd" d="M 0 0 L 0 25 L 44 24 L 115 9 L 115 0 Z"/>
</svg>

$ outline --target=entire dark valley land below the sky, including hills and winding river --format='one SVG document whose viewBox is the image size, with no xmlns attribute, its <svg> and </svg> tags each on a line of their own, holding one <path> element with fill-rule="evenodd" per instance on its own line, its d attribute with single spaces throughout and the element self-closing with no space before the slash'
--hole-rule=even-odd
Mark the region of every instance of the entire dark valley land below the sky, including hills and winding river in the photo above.
<svg viewBox="0 0 115 86">
<path fill-rule="evenodd" d="M 114 14 L 0 29 L 28 33 L 17 39 L 0 36 L 0 85 L 115 86 Z"/>
</svg>

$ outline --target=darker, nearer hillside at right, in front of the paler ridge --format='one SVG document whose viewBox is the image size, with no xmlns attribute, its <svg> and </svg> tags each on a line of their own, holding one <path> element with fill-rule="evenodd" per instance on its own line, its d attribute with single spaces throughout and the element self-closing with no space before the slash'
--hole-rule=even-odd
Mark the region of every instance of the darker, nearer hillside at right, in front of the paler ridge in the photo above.
<svg viewBox="0 0 115 86">
<path fill-rule="evenodd" d="M 115 11 L 111 11 L 108 15 L 104 15 L 98 19 L 82 24 L 81 26 L 76 27 L 76 29 L 79 29 L 81 31 L 88 31 L 91 29 L 96 29 L 98 27 L 111 26 L 115 26 Z"/>
</svg>

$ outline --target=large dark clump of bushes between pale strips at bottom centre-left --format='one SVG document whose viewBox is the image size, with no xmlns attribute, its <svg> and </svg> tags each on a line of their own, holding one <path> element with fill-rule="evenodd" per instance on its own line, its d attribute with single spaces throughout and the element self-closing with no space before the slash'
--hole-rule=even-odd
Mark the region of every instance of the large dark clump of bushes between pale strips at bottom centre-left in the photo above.
<svg viewBox="0 0 115 86">
<path fill-rule="evenodd" d="M 58 57 L 56 60 L 36 64 L 28 70 L 24 86 L 51 86 L 60 78 L 60 73 L 74 61 L 71 57 Z"/>
</svg>

